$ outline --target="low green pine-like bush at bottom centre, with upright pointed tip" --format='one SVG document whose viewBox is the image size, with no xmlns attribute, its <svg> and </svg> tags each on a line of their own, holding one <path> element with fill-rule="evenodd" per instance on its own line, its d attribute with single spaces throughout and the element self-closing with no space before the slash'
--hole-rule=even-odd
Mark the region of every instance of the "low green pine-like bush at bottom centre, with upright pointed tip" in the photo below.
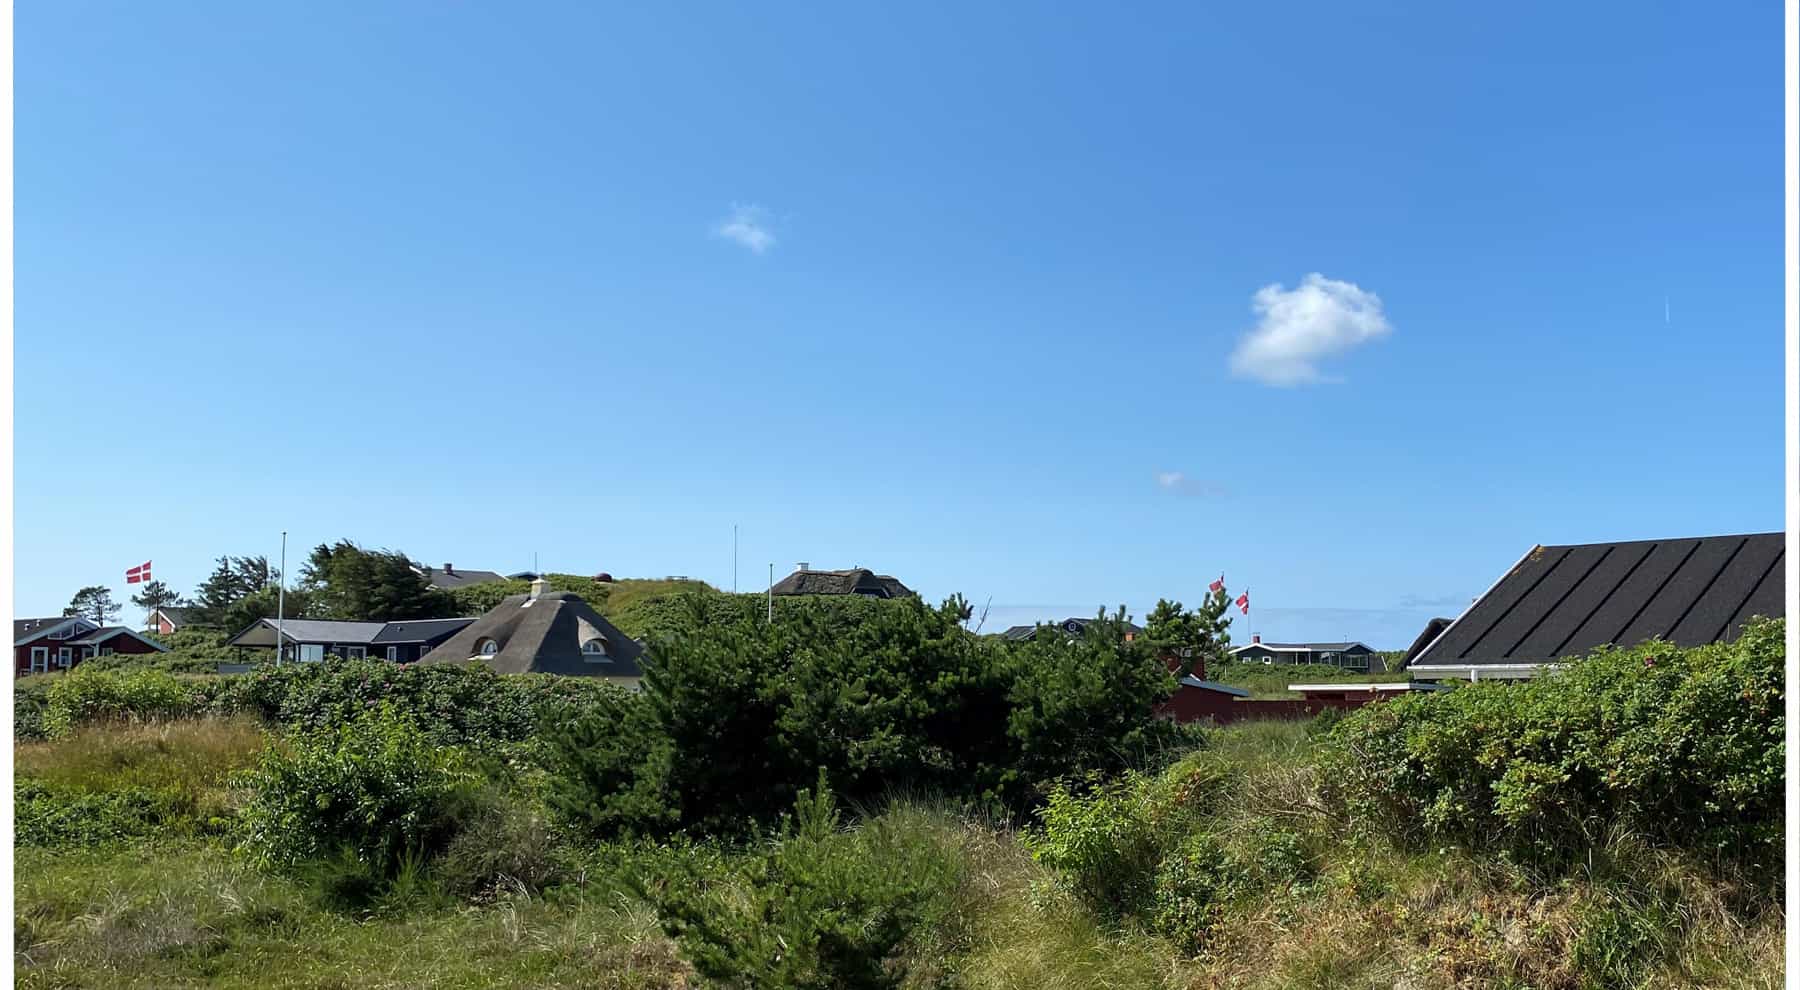
<svg viewBox="0 0 1800 990">
<path fill-rule="evenodd" d="M 639 889 L 695 970 L 724 986 L 891 988 L 909 941 L 949 911 L 959 869 L 929 833 L 882 819 L 842 832 L 821 774 L 740 875 L 686 869 Z"/>
</svg>

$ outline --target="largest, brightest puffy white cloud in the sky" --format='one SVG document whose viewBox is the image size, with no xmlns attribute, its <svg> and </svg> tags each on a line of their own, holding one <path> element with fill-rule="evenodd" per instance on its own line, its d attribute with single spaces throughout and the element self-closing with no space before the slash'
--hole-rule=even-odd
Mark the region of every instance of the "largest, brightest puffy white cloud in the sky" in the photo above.
<svg viewBox="0 0 1800 990">
<path fill-rule="evenodd" d="M 1262 286 L 1251 310 L 1256 328 L 1231 353 L 1231 374 L 1264 385 L 1334 382 L 1319 373 L 1319 358 L 1393 333 L 1379 295 L 1318 272 L 1292 290 Z"/>
</svg>

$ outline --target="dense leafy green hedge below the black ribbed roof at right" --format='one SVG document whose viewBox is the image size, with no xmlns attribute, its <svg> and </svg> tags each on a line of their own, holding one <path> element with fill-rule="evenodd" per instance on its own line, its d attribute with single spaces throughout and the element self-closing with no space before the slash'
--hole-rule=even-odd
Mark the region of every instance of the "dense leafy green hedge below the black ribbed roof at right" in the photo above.
<svg viewBox="0 0 1800 990">
<path fill-rule="evenodd" d="M 1327 794 L 1368 832 L 1550 860 L 1627 828 L 1780 877 L 1782 625 L 1730 644 L 1604 650 L 1525 684 L 1348 715 Z"/>
</svg>

